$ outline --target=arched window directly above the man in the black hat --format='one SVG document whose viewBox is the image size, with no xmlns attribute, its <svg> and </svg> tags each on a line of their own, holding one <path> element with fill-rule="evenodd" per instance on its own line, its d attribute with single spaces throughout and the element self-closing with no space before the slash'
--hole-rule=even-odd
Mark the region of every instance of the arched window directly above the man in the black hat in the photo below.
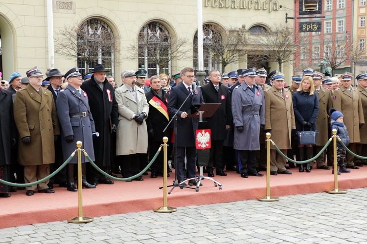
<svg viewBox="0 0 367 244">
<path fill-rule="evenodd" d="M 85 21 L 78 30 L 78 67 L 83 73 L 91 72 L 101 63 L 107 73 L 114 74 L 115 39 L 111 28 L 102 20 Z"/>
</svg>

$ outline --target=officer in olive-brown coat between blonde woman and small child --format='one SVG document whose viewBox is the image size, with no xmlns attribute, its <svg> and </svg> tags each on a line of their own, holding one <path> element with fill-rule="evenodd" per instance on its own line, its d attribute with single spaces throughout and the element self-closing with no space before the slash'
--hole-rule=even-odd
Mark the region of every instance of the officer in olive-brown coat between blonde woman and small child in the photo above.
<svg viewBox="0 0 367 244">
<path fill-rule="evenodd" d="M 317 130 L 319 131 L 319 135 L 315 145 L 315 155 L 321 151 L 327 140 L 329 140 L 330 138 L 330 116 L 328 115 L 328 113 L 330 108 L 333 107 L 330 91 L 321 86 L 322 78 L 323 74 L 318 71 L 315 71 L 312 74 L 315 92 L 317 93 L 319 99 L 319 112 L 316 119 L 316 126 Z M 330 149 L 333 150 L 332 147 Z M 329 148 L 327 150 L 329 150 Z M 319 169 L 328 170 L 330 168 L 325 165 L 325 155 L 325 151 L 323 151 L 321 155 L 316 159 L 316 167 Z M 331 159 L 329 158 L 327 160 L 331 161 Z"/>
</svg>

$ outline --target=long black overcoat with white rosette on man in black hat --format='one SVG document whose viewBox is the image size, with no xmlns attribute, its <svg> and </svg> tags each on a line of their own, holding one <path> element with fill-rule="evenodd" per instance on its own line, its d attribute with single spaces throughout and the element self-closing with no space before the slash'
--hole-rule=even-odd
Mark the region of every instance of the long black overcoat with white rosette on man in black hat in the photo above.
<svg viewBox="0 0 367 244">
<path fill-rule="evenodd" d="M 114 87 L 107 79 L 103 81 L 103 91 L 94 80 L 94 76 L 89 81 L 83 82 L 80 86 L 89 98 L 89 105 L 94 119 L 95 131 L 99 137 L 93 139 L 95 164 L 97 166 L 110 166 L 111 150 L 111 126 L 118 124 L 117 102 L 115 99 Z M 111 95 L 111 102 L 109 101 Z"/>
</svg>

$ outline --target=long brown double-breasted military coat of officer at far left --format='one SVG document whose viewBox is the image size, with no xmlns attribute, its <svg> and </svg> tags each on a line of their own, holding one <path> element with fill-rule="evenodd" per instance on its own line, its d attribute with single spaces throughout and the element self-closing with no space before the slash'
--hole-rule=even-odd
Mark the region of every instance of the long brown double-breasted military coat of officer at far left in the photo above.
<svg viewBox="0 0 367 244">
<path fill-rule="evenodd" d="M 55 162 L 54 135 L 60 135 L 52 93 L 41 87 L 41 96 L 29 84 L 14 99 L 14 120 L 19 132 L 18 157 L 22 165 Z M 22 138 L 30 136 L 24 144 Z"/>
</svg>

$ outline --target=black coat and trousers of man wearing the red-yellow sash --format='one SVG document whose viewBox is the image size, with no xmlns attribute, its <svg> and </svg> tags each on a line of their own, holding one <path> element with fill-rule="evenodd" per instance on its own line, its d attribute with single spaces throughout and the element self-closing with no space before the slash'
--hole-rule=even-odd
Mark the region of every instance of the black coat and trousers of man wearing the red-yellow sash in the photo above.
<svg viewBox="0 0 367 244">
<path fill-rule="evenodd" d="M 149 114 L 146 118 L 146 125 L 148 129 L 148 140 L 149 140 L 149 158 L 153 159 L 156 154 L 158 148 L 162 144 L 163 137 L 168 138 L 168 142 L 171 138 L 171 128 L 167 128 L 165 132 L 163 132 L 164 128 L 169 123 L 169 116 L 167 111 L 168 106 L 168 94 L 161 89 L 162 98 L 160 99 L 157 95 L 155 95 L 153 89 L 145 94 L 146 100 L 149 103 Z M 158 155 L 156 161 L 152 164 L 151 172 L 152 173 L 162 173 L 163 172 L 163 150 Z"/>
</svg>

